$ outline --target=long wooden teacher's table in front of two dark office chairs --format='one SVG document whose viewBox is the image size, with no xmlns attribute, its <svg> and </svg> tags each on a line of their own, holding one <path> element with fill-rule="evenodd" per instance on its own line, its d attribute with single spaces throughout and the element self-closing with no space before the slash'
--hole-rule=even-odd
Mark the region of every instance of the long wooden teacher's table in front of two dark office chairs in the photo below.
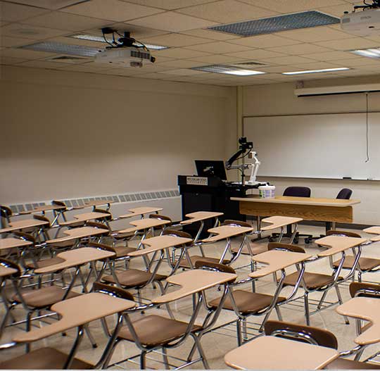
<svg viewBox="0 0 380 371">
<path fill-rule="evenodd" d="M 253 216 L 293 216 L 320 222 L 353 222 L 353 205 L 359 200 L 316 199 L 314 197 L 276 196 L 261 199 L 257 195 L 232 197 L 239 201 L 240 213 Z M 258 223 L 260 220 L 258 219 Z M 329 229 L 327 227 L 327 229 Z"/>
</svg>

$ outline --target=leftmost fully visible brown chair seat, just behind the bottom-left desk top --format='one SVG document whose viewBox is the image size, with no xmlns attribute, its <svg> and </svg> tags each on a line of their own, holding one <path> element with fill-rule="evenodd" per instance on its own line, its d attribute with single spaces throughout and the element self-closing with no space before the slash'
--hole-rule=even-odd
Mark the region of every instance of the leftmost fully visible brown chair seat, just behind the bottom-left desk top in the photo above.
<svg viewBox="0 0 380 371">
<path fill-rule="evenodd" d="M 58 303 L 58 301 L 62 301 L 64 294 L 65 290 L 56 286 L 47 286 L 37 290 L 21 291 L 21 295 L 23 295 L 27 306 L 33 308 L 46 308 L 52 306 L 53 304 Z M 70 291 L 67 298 L 74 298 L 75 296 L 80 295 L 82 294 Z M 20 298 L 17 294 L 12 296 L 12 300 L 20 303 Z"/>
</svg>

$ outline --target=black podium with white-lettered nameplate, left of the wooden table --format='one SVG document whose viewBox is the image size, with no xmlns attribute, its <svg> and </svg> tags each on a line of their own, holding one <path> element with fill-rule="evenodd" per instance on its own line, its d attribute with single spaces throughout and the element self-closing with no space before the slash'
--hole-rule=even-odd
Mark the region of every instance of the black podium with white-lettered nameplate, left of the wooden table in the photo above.
<svg viewBox="0 0 380 371">
<path fill-rule="evenodd" d="M 195 211 L 218 211 L 224 213 L 220 220 L 243 220 L 246 215 L 239 212 L 239 202 L 232 201 L 231 197 L 243 197 L 247 189 L 258 186 L 246 186 L 233 182 L 224 182 L 219 177 L 198 177 L 196 175 L 178 176 L 179 194 L 182 196 L 182 220 L 186 214 Z M 198 223 L 184 226 L 184 231 L 195 237 Z M 213 220 L 205 220 L 203 235 L 207 237 L 207 230 L 213 227 Z"/>
</svg>

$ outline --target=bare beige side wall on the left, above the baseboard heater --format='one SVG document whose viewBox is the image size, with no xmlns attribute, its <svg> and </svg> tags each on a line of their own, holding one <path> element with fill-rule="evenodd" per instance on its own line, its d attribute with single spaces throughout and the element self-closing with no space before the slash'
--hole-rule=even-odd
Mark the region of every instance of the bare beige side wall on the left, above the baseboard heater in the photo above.
<svg viewBox="0 0 380 371">
<path fill-rule="evenodd" d="M 226 156 L 235 89 L 4 68 L 0 203 L 173 189 Z"/>
</svg>

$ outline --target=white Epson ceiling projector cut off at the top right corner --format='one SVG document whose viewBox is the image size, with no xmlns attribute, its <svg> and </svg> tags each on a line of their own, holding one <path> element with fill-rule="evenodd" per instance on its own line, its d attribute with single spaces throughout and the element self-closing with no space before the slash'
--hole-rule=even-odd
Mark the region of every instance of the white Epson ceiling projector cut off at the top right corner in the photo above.
<svg viewBox="0 0 380 371">
<path fill-rule="evenodd" d="M 352 13 L 346 12 L 341 18 L 341 29 L 360 36 L 380 34 L 380 0 L 372 1 L 373 4 L 354 6 Z"/>
</svg>

